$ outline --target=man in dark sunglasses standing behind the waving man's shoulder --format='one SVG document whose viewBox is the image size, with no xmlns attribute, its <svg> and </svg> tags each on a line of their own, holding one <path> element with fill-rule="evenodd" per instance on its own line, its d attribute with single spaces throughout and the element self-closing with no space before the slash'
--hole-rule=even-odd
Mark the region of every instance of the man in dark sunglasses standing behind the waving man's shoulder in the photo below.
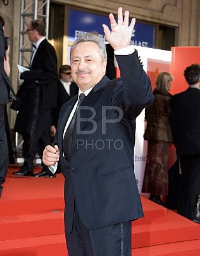
<svg viewBox="0 0 200 256">
<path fill-rule="evenodd" d="M 58 125 L 59 111 L 61 110 L 61 107 L 69 99 L 77 95 L 78 92 L 79 88 L 77 84 L 72 81 L 70 65 L 62 65 L 59 68 L 57 108 L 52 111 L 51 131 L 54 135 L 56 134 L 56 127 Z"/>
</svg>

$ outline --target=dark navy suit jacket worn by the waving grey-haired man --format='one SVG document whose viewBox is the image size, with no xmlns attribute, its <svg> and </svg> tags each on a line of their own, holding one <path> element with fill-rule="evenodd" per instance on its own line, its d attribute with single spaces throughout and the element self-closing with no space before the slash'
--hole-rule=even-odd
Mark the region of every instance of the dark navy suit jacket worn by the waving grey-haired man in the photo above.
<svg viewBox="0 0 200 256">
<path fill-rule="evenodd" d="M 63 131 L 77 97 L 61 109 L 54 143 L 59 145 L 59 166 L 65 176 L 66 232 L 72 228 L 73 196 L 89 229 L 143 216 L 133 163 L 135 118 L 153 101 L 153 93 L 137 52 L 116 58 L 121 79 L 110 81 L 104 76 L 82 101 L 86 108 L 80 110 L 81 132 L 76 129 L 81 121 L 77 118 L 69 162 L 63 157 Z M 109 120 L 104 127 L 105 116 Z"/>
</svg>

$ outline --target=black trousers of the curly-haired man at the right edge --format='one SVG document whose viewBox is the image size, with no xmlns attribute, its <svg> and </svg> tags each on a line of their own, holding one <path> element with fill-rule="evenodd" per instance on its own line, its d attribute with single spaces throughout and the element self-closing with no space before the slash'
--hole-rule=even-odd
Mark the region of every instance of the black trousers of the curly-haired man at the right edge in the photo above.
<svg viewBox="0 0 200 256">
<path fill-rule="evenodd" d="M 194 220 L 194 208 L 200 194 L 200 155 L 180 155 L 181 186 L 178 213 Z"/>
</svg>

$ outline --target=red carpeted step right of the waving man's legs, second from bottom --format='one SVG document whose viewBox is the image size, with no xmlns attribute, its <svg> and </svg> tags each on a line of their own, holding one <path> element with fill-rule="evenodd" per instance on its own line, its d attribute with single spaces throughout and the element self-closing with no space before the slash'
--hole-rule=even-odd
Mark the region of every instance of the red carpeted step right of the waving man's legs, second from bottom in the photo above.
<svg viewBox="0 0 200 256">
<path fill-rule="evenodd" d="M 167 209 L 158 220 L 141 218 L 132 222 L 132 248 L 194 239 L 200 239 L 200 225 Z"/>
</svg>

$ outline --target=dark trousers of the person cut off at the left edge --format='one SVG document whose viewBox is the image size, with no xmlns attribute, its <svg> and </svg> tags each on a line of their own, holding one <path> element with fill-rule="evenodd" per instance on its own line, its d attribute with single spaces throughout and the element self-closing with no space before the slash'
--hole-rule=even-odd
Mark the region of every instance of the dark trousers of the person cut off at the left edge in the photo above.
<svg viewBox="0 0 200 256">
<path fill-rule="evenodd" d="M 5 108 L 6 104 L 0 104 L 0 189 L 6 179 L 9 163 L 8 142 L 5 131 Z"/>
</svg>

